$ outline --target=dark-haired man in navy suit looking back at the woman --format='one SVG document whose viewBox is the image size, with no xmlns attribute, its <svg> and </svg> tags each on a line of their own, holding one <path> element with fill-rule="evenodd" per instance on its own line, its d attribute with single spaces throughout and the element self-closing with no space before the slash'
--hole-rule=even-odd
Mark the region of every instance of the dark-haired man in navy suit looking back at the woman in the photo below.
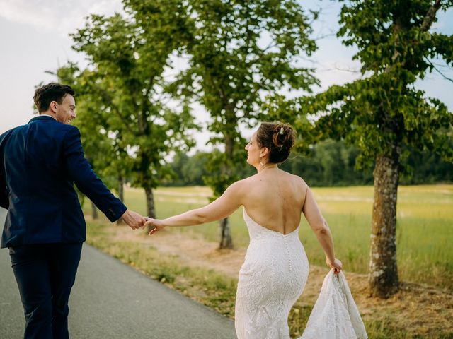
<svg viewBox="0 0 453 339">
<path fill-rule="evenodd" d="M 68 299 L 86 225 L 74 184 L 111 222 L 146 222 L 115 198 L 84 157 L 74 90 L 50 83 L 35 91 L 40 115 L 0 136 L 0 206 L 8 209 L 8 247 L 25 311 L 24 338 L 69 338 Z"/>
</svg>

